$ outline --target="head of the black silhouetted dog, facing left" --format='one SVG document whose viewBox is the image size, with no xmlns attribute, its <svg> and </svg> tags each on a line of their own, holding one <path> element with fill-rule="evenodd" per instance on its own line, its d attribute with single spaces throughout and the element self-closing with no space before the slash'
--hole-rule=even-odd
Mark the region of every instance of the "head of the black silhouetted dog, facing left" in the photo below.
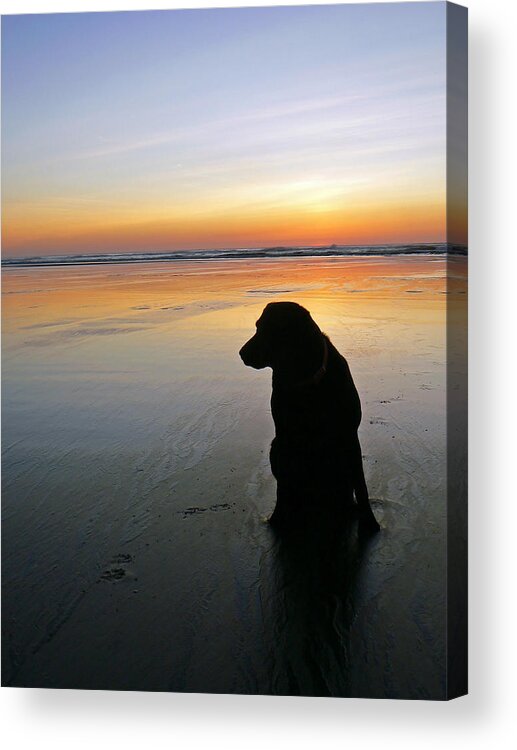
<svg viewBox="0 0 517 750">
<path fill-rule="evenodd" d="M 257 332 L 239 354 L 248 367 L 299 370 L 316 348 L 321 331 L 308 310 L 296 302 L 270 302 L 256 323 Z"/>
</svg>

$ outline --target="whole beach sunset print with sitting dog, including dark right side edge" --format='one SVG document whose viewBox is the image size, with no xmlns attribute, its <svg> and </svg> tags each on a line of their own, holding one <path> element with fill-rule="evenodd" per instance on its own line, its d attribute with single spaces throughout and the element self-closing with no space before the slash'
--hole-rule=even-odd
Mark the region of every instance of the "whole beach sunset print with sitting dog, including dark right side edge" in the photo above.
<svg viewBox="0 0 517 750">
<path fill-rule="evenodd" d="M 466 34 L 2 18 L 4 685 L 466 692 Z"/>
</svg>

